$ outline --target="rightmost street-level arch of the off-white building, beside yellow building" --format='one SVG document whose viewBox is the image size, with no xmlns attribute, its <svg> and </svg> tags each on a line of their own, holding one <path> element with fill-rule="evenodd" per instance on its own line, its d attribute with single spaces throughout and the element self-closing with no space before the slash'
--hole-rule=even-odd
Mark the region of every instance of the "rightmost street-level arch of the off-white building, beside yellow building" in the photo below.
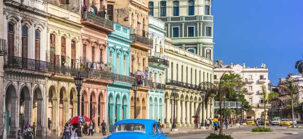
<svg viewBox="0 0 303 139">
<path fill-rule="evenodd" d="M 33 97 L 33 123 L 36 125 L 36 136 L 42 136 L 42 92 L 40 88 L 36 88 L 34 91 L 34 97 Z"/>
</svg>

